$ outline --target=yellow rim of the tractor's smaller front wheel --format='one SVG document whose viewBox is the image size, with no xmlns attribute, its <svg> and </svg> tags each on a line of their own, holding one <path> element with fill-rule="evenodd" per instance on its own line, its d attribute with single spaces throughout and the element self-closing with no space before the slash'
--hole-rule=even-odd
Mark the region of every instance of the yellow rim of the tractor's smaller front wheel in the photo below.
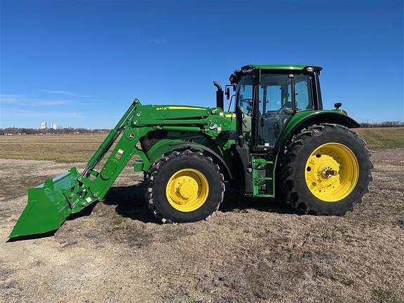
<svg viewBox="0 0 404 303">
<path fill-rule="evenodd" d="M 208 180 L 194 168 L 178 170 L 170 177 L 166 187 L 168 202 L 182 212 L 191 212 L 203 206 L 208 194 Z"/>
</svg>

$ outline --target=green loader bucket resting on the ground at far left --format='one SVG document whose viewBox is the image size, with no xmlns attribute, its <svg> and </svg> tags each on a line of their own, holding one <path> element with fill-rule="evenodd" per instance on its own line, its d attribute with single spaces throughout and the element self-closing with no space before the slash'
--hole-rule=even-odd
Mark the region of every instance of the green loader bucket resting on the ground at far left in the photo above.
<svg viewBox="0 0 404 303">
<path fill-rule="evenodd" d="M 28 203 L 8 238 L 43 234 L 59 229 L 72 213 L 64 191 L 69 191 L 76 180 L 72 169 L 28 189 Z"/>
</svg>

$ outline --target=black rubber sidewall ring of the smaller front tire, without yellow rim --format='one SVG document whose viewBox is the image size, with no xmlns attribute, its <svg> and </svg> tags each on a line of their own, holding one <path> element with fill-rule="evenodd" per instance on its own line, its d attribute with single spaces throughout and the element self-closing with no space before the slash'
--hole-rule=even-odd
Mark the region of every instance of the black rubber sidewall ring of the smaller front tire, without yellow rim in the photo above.
<svg viewBox="0 0 404 303">
<path fill-rule="evenodd" d="M 202 161 L 201 161 L 202 160 Z M 168 180 L 178 170 L 193 168 L 201 172 L 208 180 L 209 193 L 203 205 L 191 212 L 181 212 L 176 210 L 168 202 L 166 187 Z M 153 203 L 159 209 L 165 219 L 173 222 L 194 222 L 203 220 L 211 215 L 217 206 L 222 202 L 222 178 L 215 169 L 215 164 L 211 163 L 204 156 L 181 156 L 170 159 L 159 169 L 159 173 L 154 179 Z"/>
</svg>

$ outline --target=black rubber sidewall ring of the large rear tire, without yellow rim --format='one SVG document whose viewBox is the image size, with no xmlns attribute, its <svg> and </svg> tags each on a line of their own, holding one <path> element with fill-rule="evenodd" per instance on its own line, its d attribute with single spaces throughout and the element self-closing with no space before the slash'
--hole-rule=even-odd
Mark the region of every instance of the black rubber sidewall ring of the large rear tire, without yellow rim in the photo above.
<svg viewBox="0 0 404 303">
<path fill-rule="evenodd" d="M 311 153 L 321 145 L 331 142 L 342 144 L 351 149 L 359 164 L 359 175 L 356 187 L 348 196 L 335 202 L 322 201 L 314 196 L 307 187 L 305 178 L 306 163 Z M 360 201 L 363 192 L 368 188 L 368 175 L 370 173 L 368 151 L 363 144 L 358 142 L 358 138 L 354 137 L 351 133 L 334 129 L 318 133 L 304 142 L 302 149 L 299 151 L 298 158 L 301 159 L 301 161 L 295 163 L 295 174 L 293 177 L 296 182 L 297 192 L 300 198 L 302 198 L 302 201 L 304 201 L 304 204 L 308 206 L 309 209 L 316 210 L 318 214 L 338 215 L 345 213 Z"/>
</svg>

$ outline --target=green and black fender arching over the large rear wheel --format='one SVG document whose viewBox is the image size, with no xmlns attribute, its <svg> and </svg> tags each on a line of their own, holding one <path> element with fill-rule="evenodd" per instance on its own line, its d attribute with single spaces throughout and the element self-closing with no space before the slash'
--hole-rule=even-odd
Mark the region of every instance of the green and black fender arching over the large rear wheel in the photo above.
<svg viewBox="0 0 404 303">
<path fill-rule="evenodd" d="M 319 123 L 337 123 L 348 128 L 360 128 L 361 125 L 342 110 L 304 111 L 297 112 L 290 117 L 283 127 L 282 133 L 276 142 L 274 150 L 279 152 L 290 138 L 299 133 L 303 128 L 307 128 Z"/>
</svg>

